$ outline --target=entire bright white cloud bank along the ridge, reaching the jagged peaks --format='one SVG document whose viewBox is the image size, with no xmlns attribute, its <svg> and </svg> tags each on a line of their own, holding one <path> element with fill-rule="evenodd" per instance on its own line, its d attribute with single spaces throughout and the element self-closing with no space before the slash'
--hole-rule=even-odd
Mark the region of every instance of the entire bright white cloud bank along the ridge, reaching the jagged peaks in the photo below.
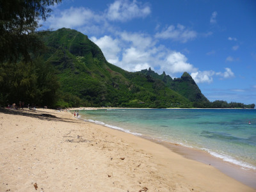
<svg viewBox="0 0 256 192">
<path fill-rule="evenodd" d="M 110 36 L 92 37 L 99 45 L 109 63 L 134 72 L 151 67 L 158 73 L 166 72 L 173 76 L 178 72 L 195 72 L 197 69 L 188 63 L 188 58 L 180 52 L 156 46 L 156 41 L 140 33 L 117 33 L 115 39 Z"/>
</svg>

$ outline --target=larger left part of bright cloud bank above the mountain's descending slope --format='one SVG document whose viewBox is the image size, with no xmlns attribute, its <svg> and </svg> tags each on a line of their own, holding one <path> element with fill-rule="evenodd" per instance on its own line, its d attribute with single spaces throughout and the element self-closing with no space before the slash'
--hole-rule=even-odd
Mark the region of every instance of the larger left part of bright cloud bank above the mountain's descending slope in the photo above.
<svg viewBox="0 0 256 192">
<path fill-rule="evenodd" d="M 109 63 L 131 72 L 154 68 L 157 63 L 154 56 L 161 50 L 155 47 L 150 36 L 140 33 L 117 32 L 115 39 L 104 36 L 99 39 L 92 37 L 92 40 L 102 49 Z"/>
</svg>

